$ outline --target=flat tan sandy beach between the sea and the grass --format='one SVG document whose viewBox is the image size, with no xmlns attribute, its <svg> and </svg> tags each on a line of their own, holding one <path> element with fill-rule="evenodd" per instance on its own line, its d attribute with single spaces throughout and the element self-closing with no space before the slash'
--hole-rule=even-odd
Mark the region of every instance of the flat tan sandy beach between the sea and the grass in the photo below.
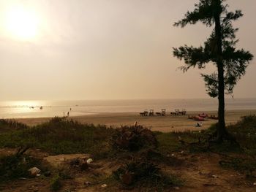
<svg viewBox="0 0 256 192">
<path fill-rule="evenodd" d="M 200 112 L 188 112 L 188 115 L 197 115 Z M 205 112 L 208 115 L 217 115 L 217 112 Z M 255 115 L 256 110 L 236 110 L 226 112 L 226 124 L 236 123 L 244 115 Z M 21 123 L 26 123 L 29 126 L 34 126 L 39 123 L 44 123 L 50 118 L 19 118 L 17 119 Z M 112 126 L 114 128 L 118 126 L 131 126 L 138 121 L 142 126 L 151 128 L 152 131 L 186 131 L 186 130 L 200 130 L 203 128 L 208 128 L 211 124 L 216 123 L 217 120 L 206 119 L 203 121 L 203 126 L 201 128 L 195 127 L 197 121 L 188 119 L 187 115 L 170 115 L 167 112 L 166 116 L 140 116 L 135 112 L 118 113 L 118 112 L 108 112 L 108 113 L 97 113 L 91 115 L 83 115 L 78 117 L 70 117 L 69 119 L 78 120 L 80 123 L 93 123 L 105 124 L 107 126 Z"/>
</svg>

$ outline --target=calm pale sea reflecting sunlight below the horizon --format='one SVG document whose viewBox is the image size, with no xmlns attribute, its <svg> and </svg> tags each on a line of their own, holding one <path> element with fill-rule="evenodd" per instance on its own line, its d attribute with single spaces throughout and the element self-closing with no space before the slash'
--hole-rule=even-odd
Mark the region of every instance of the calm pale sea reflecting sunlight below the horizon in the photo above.
<svg viewBox="0 0 256 192">
<path fill-rule="evenodd" d="M 40 109 L 42 107 L 42 109 Z M 85 101 L 0 101 L 0 118 L 80 116 L 102 112 L 143 112 L 176 109 L 217 111 L 217 99 L 145 99 Z M 256 110 L 256 99 L 226 99 L 225 110 Z"/>
</svg>

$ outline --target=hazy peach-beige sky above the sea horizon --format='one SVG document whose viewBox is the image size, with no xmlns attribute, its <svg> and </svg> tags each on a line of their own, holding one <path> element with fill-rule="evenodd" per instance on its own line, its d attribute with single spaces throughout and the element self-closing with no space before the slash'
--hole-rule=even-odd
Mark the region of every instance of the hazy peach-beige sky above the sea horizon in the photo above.
<svg viewBox="0 0 256 192">
<path fill-rule="evenodd" d="M 211 29 L 174 28 L 197 0 L 0 0 L 0 100 L 207 98 L 172 47 L 202 45 Z M 242 9 L 239 47 L 256 56 L 256 1 Z M 214 70 L 213 67 L 206 72 Z M 252 61 L 235 97 L 256 97 Z"/>
</svg>

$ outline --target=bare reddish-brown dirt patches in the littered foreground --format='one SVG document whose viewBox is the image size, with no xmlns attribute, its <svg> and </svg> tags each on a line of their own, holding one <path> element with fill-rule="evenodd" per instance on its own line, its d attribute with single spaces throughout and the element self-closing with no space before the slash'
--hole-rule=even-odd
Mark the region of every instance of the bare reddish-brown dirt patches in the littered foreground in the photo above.
<svg viewBox="0 0 256 192">
<path fill-rule="evenodd" d="M 15 149 L 0 149 L 0 155 L 11 153 L 15 153 Z M 43 153 L 40 150 L 29 150 L 26 153 L 44 159 L 45 164 L 57 167 L 61 164 L 67 164 L 66 162 L 72 158 L 90 157 L 89 154 L 48 155 L 48 153 Z M 232 169 L 223 169 L 219 166 L 219 160 L 222 159 L 221 155 L 214 153 L 173 153 L 170 154 L 170 156 L 176 157 L 182 163 L 178 166 L 159 164 L 159 167 L 167 173 L 180 176 L 184 180 L 184 185 L 181 187 L 170 188 L 167 191 L 256 191 L 256 185 L 253 185 L 253 183 L 256 182 L 256 178 L 254 180 L 248 180 L 243 173 L 236 172 Z M 72 172 L 75 177 L 64 180 L 60 191 L 125 191 L 122 189 L 121 185 L 115 182 L 113 184 L 108 184 L 105 188 L 102 187 L 102 184 L 105 184 L 105 178 L 110 176 L 113 170 L 116 170 L 119 165 L 120 162 L 118 162 L 118 160 L 100 160 L 93 161 L 86 171 L 74 169 Z M 15 180 L 10 183 L 1 184 L 0 191 L 50 191 L 51 177 L 23 178 Z M 147 190 L 134 188 L 130 191 Z"/>
</svg>

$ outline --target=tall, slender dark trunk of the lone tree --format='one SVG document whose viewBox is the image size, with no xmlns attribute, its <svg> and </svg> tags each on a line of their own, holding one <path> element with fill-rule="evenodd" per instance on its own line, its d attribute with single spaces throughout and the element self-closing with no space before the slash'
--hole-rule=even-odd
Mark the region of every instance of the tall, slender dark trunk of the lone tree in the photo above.
<svg viewBox="0 0 256 192">
<path fill-rule="evenodd" d="M 225 86 L 224 86 L 224 66 L 222 59 L 222 28 L 220 24 L 221 1 L 213 0 L 214 2 L 214 20 L 215 20 L 215 37 L 217 42 L 217 68 L 218 68 L 218 99 L 219 99 L 219 125 L 217 126 L 217 139 L 222 141 L 227 137 L 225 127 Z"/>
</svg>

